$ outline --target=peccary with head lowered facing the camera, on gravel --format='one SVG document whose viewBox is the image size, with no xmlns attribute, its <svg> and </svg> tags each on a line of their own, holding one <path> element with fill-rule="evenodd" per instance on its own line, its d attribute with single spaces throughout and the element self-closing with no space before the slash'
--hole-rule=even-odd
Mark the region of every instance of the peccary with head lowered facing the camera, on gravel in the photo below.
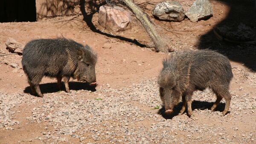
<svg viewBox="0 0 256 144">
<path fill-rule="evenodd" d="M 192 93 L 195 90 L 211 88 L 217 96 L 211 110 L 213 111 L 224 98 L 225 115 L 230 107 L 229 85 L 232 78 L 229 59 L 215 51 L 183 51 L 171 54 L 163 61 L 163 69 L 158 77 L 165 113 L 171 114 L 173 107 L 182 97 L 183 106 L 180 113 L 184 113 L 187 105 L 190 117 Z"/>
</svg>

